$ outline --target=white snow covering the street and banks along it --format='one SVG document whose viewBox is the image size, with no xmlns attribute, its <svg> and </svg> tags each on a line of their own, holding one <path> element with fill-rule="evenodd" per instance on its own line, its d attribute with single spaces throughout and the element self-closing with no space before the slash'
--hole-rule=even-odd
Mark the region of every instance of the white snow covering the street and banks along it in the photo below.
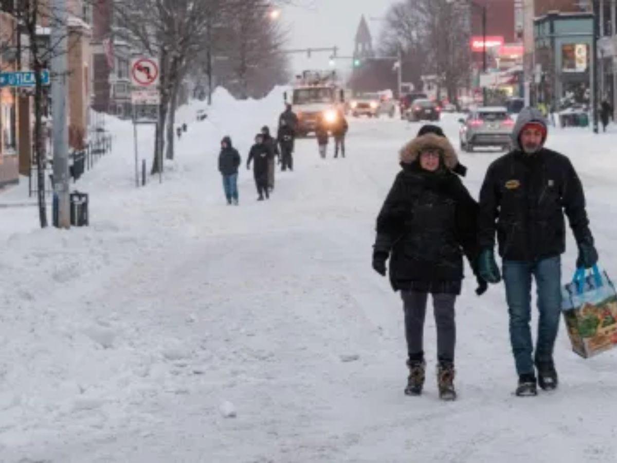
<svg viewBox="0 0 617 463">
<path fill-rule="evenodd" d="M 108 120 L 114 151 L 76 186 L 91 194 L 88 228 L 39 230 L 35 207 L 0 207 L 0 461 L 617 461 L 617 350 L 581 359 L 561 329 L 560 389 L 515 398 L 502 285 L 478 298 L 464 282 L 458 401 L 437 398 L 431 317 L 426 393 L 404 396 L 402 303 L 370 258 L 398 149 L 420 124 L 350 120 L 346 159 L 300 140 L 296 169 L 258 203 L 244 162 L 260 127 L 274 130 L 282 91 L 217 91 L 204 122 L 203 103 L 181 109 L 188 133 L 146 188 L 133 127 Z M 458 117 L 442 121 L 455 144 Z M 224 135 L 243 158 L 239 207 L 217 171 Z M 581 175 L 613 276 L 616 140 L 614 128 L 549 135 Z M 140 127 L 140 156 L 152 143 Z M 474 195 L 498 156 L 460 155 Z M 23 185 L 0 206 L 22 199 Z M 575 259 L 570 237 L 564 280 Z"/>
</svg>

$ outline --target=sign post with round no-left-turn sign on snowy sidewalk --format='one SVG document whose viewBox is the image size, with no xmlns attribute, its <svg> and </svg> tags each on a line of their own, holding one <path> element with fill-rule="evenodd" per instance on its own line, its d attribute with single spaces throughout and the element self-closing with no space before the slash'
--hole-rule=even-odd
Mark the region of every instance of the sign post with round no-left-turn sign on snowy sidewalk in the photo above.
<svg viewBox="0 0 617 463">
<path fill-rule="evenodd" d="M 139 57 L 131 60 L 131 102 L 133 103 L 133 137 L 135 138 L 135 183 L 139 188 L 139 154 L 137 140 L 137 126 L 143 124 L 156 124 L 158 121 L 141 120 L 138 115 L 139 106 L 158 106 L 160 104 L 159 92 L 159 60 L 151 57 Z M 159 151 L 157 149 L 157 151 Z M 162 154 L 159 157 L 159 182 L 162 183 Z"/>
</svg>

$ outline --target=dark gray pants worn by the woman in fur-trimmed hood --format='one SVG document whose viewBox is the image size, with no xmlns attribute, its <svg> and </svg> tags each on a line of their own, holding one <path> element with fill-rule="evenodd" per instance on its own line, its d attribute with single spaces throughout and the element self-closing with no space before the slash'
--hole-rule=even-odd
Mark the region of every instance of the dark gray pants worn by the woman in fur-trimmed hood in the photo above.
<svg viewBox="0 0 617 463">
<path fill-rule="evenodd" d="M 424 358 L 424 318 L 428 293 L 401 291 L 405 311 L 405 337 L 410 360 Z M 437 359 L 443 362 L 454 361 L 454 346 L 457 340 L 457 327 L 454 321 L 455 294 L 433 294 L 433 308 L 437 324 Z"/>
</svg>

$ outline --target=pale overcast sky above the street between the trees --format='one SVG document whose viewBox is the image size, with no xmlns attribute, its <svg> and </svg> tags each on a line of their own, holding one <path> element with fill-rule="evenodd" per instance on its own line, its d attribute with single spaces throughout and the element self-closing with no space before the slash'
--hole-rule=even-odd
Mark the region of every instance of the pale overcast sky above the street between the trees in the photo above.
<svg viewBox="0 0 617 463">
<path fill-rule="evenodd" d="M 399 0 L 400 1 L 400 0 Z M 294 6 L 283 9 L 281 21 L 289 31 L 289 48 L 339 47 L 339 55 L 349 56 L 354 51 L 354 37 L 364 14 L 376 46 L 383 22 L 370 18 L 383 18 L 389 6 L 397 0 L 293 0 Z M 327 69 L 328 53 L 292 56 L 292 71 Z M 350 62 L 341 63 L 350 67 Z"/>
</svg>

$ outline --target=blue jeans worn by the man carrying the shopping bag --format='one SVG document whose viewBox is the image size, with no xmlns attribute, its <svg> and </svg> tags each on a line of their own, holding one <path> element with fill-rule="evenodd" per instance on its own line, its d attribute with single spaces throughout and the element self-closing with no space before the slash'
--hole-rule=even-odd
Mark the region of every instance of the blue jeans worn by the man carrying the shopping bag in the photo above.
<svg viewBox="0 0 617 463">
<path fill-rule="evenodd" d="M 531 277 L 536 278 L 540 312 L 536 355 L 532 359 Z M 537 262 L 503 262 L 503 281 L 510 311 L 510 343 L 519 375 L 534 373 L 536 364 L 553 361 L 553 346 L 561 315 L 561 258 Z"/>
</svg>

